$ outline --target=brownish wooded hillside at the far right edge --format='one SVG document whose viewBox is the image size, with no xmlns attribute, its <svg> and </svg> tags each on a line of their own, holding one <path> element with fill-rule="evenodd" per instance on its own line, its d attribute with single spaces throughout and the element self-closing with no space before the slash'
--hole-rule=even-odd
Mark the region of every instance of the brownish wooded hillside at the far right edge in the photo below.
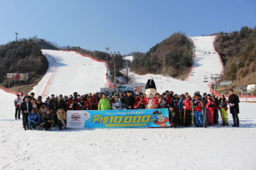
<svg viewBox="0 0 256 170">
<path fill-rule="evenodd" d="M 214 46 L 225 66 L 225 80 L 236 80 L 237 75 L 246 77 L 255 72 L 256 27 L 244 26 L 240 31 L 219 32 Z M 239 61 L 239 73 L 236 61 Z"/>
</svg>

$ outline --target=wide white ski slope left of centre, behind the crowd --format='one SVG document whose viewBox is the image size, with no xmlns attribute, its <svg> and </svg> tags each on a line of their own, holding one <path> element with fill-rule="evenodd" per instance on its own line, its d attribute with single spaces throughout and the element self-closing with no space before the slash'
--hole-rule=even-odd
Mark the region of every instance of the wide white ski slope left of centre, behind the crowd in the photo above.
<svg viewBox="0 0 256 170">
<path fill-rule="evenodd" d="M 42 50 L 42 53 L 48 58 L 49 69 L 45 77 L 32 90 L 36 95 L 43 93 L 51 76 L 43 98 L 51 94 L 69 95 L 75 91 L 82 95 L 97 92 L 105 87 L 107 72 L 105 63 L 83 57 L 75 52 Z M 56 66 L 50 56 L 55 59 Z"/>
</svg>

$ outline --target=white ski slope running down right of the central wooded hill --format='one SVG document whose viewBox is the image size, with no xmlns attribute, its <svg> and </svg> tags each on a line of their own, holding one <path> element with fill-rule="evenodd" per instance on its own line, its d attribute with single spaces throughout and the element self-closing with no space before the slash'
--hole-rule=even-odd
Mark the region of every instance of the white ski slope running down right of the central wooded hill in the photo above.
<svg viewBox="0 0 256 170">
<path fill-rule="evenodd" d="M 188 92 L 191 95 L 196 90 L 200 90 L 201 93 L 209 93 L 208 83 L 203 82 L 204 75 L 206 75 L 206 72 L 208 75 L 220 74 L 222 72 L 222 64 L 219 62 L 219 56 L 216 53 L 214 54 L 213 42 L 215 36 L 192 36 L 190 39 L 194 42 L 196 51 L 192 72 L 187 81 L 176 80 L 172 77 L 163 77 L 160 74 L 138 75 L 133 72 L 129 72 L 130 77 L 135 82 L 141 83 L 146 83 L 149 78 L 153 78 L 156 82 L 158 93 L 163 93 L 165 90 L 172 90 L 178 94 Z M 198 49 L 207 53 L 200 53 L 197 51 Z M 208 81 L 212 80 L 209 79 Z"/>
</svg>

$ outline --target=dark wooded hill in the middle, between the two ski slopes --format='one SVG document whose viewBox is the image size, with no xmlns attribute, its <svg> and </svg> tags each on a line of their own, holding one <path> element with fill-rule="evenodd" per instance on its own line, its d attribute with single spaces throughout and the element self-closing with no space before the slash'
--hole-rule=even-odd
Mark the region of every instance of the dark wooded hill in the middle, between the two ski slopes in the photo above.
<svg viewBox="0 0 256 170">
<path fill-rule="evenodd" d="M 177 77 L 192 66 L 193 45 L 184 32 L 172 34 L 152 47 L 146 54 L 134 55 L 131 71 L 138 74 L 165 74 Z M 165 73 L 164 68 L 165 53 Z"/>
</svg>

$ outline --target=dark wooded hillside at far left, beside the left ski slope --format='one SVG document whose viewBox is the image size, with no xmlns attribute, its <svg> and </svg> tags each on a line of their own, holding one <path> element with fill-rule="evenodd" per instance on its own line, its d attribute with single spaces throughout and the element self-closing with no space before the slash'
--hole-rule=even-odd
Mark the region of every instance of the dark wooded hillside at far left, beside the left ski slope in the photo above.
<svg viewBox="0 0 256 170">
<path fill-rule="evenodd" d="M 0 46 L 0 83 L 7 87 L 7 73 L 45 74 L 48 61 L 32 39 L 21 39 Z"/>
</svg>

